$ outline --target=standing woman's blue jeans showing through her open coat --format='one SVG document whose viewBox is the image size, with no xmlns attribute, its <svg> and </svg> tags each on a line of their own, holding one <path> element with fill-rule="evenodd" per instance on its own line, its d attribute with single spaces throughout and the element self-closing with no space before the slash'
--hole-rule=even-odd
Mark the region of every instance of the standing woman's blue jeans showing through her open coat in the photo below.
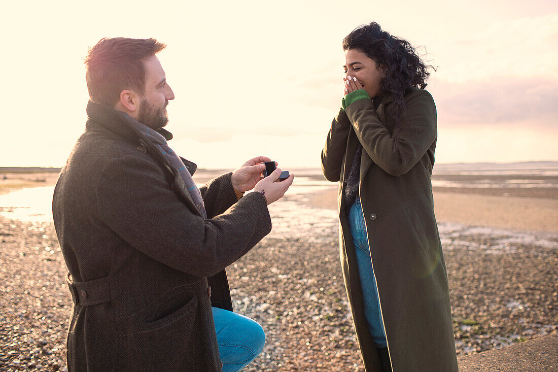
<svg viewBox="0 0 558 372">
<path fill-rule="evenodd" d="M 382 321 L 376 277 L 372 268 L 364 213 L 358 198 L 350 207 L 348 222 L 355 253 L 357 254 L 358 276 L 362 287 L 364 317 L 368 323 L 368 330 L 377 347 L 387 347 L 386 331 Z"/>
</svg>

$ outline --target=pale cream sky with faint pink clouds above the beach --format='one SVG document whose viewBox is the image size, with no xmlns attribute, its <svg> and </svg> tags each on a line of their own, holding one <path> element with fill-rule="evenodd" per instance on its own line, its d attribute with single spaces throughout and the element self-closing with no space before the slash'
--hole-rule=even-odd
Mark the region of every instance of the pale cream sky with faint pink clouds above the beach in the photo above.
<svg viewBox="0 0 558 372">
<path fill-rule="evenodd" d="M 124 36 L 168 45 L 158 58 L 178 154 L 201 168 L 257 155 L 319 168 L 341 41 L 371 21 L 437 66 L 437 163 L 558 160 L 556 0 L 22 1 L 0 19 L 0 166 L 64 165 L 85 126 L 83 57 Z"/>
</svg>

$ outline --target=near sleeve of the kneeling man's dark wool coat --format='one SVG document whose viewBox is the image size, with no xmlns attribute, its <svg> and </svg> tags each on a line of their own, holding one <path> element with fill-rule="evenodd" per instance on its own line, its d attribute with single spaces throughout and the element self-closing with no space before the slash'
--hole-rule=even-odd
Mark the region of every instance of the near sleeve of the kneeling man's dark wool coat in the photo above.
<svg viewBox="0 0 558 372">
<path fill-rule="evenodd" d="M 121 156 L 96 186 L 99 218 L 127 244 L 176 270 L 212 276 L 246 254 L 271 231 L 267 203 L 249 193 L 204 220 L 172 192 L 151 159 Z"/>
</svg>

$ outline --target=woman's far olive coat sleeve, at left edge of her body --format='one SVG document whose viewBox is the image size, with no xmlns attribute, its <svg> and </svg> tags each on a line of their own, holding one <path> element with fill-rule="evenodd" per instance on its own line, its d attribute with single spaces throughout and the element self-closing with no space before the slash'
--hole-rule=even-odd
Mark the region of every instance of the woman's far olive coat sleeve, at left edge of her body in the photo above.
<svg viewBox="0 0 558 372">
<path fill-rule="evenodd" d="M 347 113 L 341 109 L 331 122 L 324 149 L 321 150 L 321 170 L 328 181 L 337 182 L 341 178 L 341 163 L 347 149 L 350 128 Z"/>
</svg>

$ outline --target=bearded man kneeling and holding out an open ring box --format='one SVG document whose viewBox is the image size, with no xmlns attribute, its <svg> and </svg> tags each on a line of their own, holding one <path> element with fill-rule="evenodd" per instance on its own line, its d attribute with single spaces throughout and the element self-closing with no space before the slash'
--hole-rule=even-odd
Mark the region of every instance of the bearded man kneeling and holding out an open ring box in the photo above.
<svg viewBox="0 0 558 372">
<path fill-rule="evenodd" d="M 198 189 L 162 128 L 164 47 L 118 37 L 86 57 L 88 120 L 52 206 L 74 300 L 69 371 L 237 371 L 263 347 L 224 269 L 271 231 L 267 205 L 293 176 L 261 179 L 260 156 Z"/>
</svg>

